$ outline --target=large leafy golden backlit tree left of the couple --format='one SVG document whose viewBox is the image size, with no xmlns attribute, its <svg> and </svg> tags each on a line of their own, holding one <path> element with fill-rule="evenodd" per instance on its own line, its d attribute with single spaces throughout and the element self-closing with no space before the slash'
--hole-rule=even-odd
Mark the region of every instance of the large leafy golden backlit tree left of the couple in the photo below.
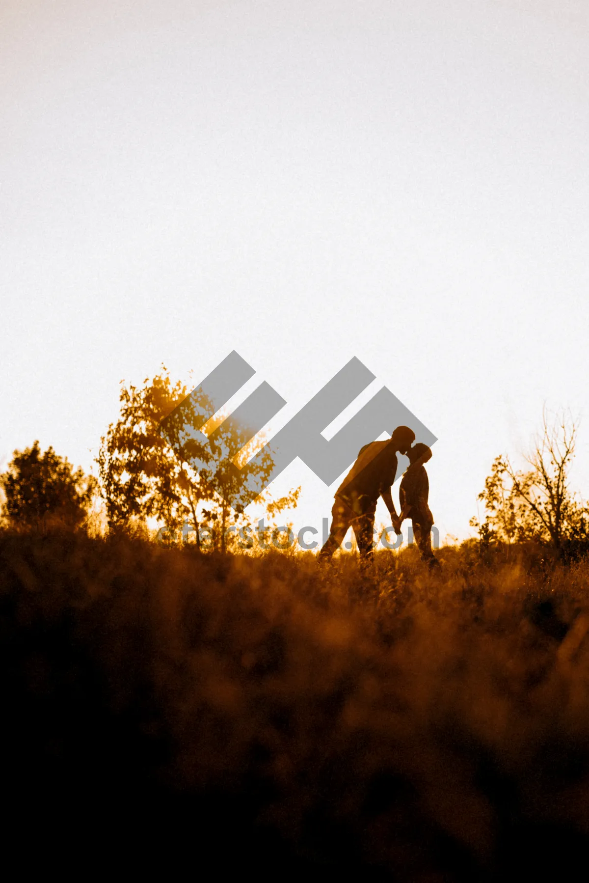
<svg viewBox="0 0 589 883">
<path fill-rule="evenodd" d="M 239 522 L 242 491 L 256 479 L 263 486 L 272 471 L 269 452 L 247 463 L 254 442 L 246 428 L 218 415 L 213 423 L 207 396 L 198 390 L 189 396 L 182 383 L 170 380 L 165 366 L 140 389 L 121 383 L 119 397 L 119 419 L 102 438 L 97 458 L 109 525 L 155 517 L 173 536 L 188 523 L 197 546 L 207 528 L 215 547 L 225 551 L 229 520 Z M 296 505 L 298 492 L 293 494 L 283 505 Z M 279 504 L 268 494 L 264 501 L 275 509 Z M 246 522 L 243 513 L 241 519 Z"/>
</svg>

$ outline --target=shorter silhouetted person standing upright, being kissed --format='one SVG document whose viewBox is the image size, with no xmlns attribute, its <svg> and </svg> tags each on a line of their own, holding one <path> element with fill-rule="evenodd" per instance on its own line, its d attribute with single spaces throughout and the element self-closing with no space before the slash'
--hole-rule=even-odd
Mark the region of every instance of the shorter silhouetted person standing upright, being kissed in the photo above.
<svg viewBox="0 0 589 883">
<path fill-rule="evenodd" d="M 401 514 L 395 528 L 400 532 L 404 518 L 410 517 L 413 525 L 413 536 L 423 561 L 430 567 L 439 567 L 440 562 L 432 551 L 432 526 L 434 517 L 427 505 L 429 481 L 424 464 L 432 457 L 431 448 L 427 444 L 413 445 L 407 451 L 410 466 L 405 472 L 399 487 L 399 506 Z"/>
</svg>

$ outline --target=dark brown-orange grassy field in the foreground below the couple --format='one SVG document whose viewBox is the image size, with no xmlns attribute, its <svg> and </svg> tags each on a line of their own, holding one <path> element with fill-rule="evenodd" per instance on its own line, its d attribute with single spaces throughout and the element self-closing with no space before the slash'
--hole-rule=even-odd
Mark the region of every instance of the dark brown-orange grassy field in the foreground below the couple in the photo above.
<svg viewBox="0 0 589 883">
<path fill-rule="evenodd" d="M 262 878 L 566 878 L 589 846 L 589 563 L 437 555 L 363 575 L 0 535 L 6 841 Z"/>
</svg>

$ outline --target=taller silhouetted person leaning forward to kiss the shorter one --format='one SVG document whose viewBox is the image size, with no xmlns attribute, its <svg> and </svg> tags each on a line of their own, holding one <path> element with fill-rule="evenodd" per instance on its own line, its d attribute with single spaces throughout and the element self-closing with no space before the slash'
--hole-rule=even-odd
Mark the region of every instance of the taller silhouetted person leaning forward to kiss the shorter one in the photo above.
<svg viewBox="0 0 589 883">
<path fill-rule="evenodd" d="M 336 490 L 331 509 L 331 530 L 320 557 L 333 555 L 351 527 L 360 557 L 370 558 L 376 502 L 381 496 L 395 524 L 397 517 L 390 488 L 396 478 L 396 454 L 405 454 L 414 441 L 415 433 L 409 426 L 397 426 L 389 441 L 371 442 L 359 450 L 356 462 Z"/>
</svg>

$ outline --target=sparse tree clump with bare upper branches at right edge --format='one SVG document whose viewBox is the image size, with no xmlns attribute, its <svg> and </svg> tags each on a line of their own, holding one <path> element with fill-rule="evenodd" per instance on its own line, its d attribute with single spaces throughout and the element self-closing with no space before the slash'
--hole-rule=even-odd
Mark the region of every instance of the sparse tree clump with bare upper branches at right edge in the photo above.
<svg viewBox="0 0 589 883">
<path fill-rule="evenodd" d="M 542 430 L 525 457 L 530 468 L 516 470 L 507 455 L 495 458 L 479 494 L 485 521 L 471 520 L 481 540 L 540 540 L 560 551 L 564 540 L 586 538 L 587 509 L 569 487 L 577 433 L 570 414 L 549 418 L 544 409 Z"/>
</svg>

